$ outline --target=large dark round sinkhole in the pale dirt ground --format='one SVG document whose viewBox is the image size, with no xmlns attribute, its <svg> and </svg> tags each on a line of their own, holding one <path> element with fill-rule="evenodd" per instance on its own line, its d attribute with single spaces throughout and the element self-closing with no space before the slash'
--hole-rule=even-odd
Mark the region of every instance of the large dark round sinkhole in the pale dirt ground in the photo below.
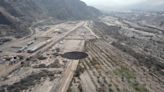
<svg viewBox="0 0 164 92">
<path fill-rule="evenodd" d="M 64 53 L 62 57 L 67 59 L 79 60 L 88 57 L 88 54 L 85 52 L 73 51 Z"/>
</svg>

